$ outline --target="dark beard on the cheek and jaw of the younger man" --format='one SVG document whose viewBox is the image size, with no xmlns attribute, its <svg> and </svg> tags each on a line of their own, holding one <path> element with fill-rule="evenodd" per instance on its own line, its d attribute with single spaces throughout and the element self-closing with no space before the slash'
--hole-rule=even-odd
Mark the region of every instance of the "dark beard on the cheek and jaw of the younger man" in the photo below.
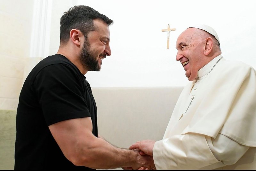
<svg viewBox="0 0 256 171">
<path fill-rule="evenodd" d="M 98 63 L 97 55 L 95 55 L 94 51 L 90 51 L 90 45 L 89 42 L 86 40 L 84 41 L 84 47 L 82 49 L 81 55 L 80 55 L 80 61 L 82 65 L 88 70 L 88 71 L 100 71 L 101 66 Z"/>
</svg>

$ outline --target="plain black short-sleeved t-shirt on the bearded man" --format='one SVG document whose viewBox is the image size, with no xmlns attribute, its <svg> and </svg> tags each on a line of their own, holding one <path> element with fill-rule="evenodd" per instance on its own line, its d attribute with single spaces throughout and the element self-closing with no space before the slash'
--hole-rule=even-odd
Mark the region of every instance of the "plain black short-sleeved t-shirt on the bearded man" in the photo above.
<svg viewBox="0 0 256 171">
<path fill-rule="evenodd" d="M 67 160 L 48 128 L 82 117 L 91 117 L 97 137 L 97 107 L 85 76 L 65 56 L 40 61 L 20 92 L 14 169 L 90 169 Z"/>
</svg>

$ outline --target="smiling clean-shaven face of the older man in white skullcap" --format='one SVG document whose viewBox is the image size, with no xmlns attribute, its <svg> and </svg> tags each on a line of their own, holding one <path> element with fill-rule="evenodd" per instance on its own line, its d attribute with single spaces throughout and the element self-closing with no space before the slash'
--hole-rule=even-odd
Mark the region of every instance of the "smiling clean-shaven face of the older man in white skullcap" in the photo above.
<svg viewBox="0 0 256 171">
<path fill-rule="evenodd" d="M 176 60 L 182 64 L 189 81 L 195 80 L 197 71 L 207 63 L 203 52 L 205 40 L 202 39 L 198 30 L 196 28 L 186 29 L 176 42 L 178 50 Z"/>
</svg>

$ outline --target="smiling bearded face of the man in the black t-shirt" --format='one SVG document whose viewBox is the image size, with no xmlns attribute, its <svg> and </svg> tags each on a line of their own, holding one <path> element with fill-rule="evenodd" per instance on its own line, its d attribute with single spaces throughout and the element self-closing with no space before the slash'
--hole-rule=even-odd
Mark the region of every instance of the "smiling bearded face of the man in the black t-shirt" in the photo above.
<svg viewBox="0 0 256 171">
<path fill-rule="evenodd" d="M 88 71 L 100 71 L 102 59 L 111 55 L 108 24 L 93 20 L 96 31 L 91 31 L 84 40 L 80 61 Z"/>
</svg>

